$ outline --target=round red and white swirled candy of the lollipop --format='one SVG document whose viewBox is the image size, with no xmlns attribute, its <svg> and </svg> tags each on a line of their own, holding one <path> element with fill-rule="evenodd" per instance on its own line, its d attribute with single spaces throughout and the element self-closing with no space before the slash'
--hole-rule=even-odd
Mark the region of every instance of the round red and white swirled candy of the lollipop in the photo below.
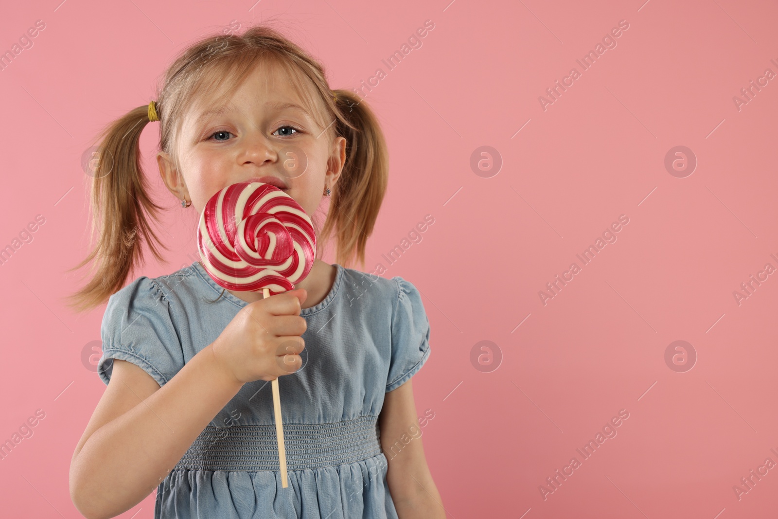
<svg viewBox="0 0 778 519">
<path fill-rule="evenodd" d="M 228 290 L 292 290 L 316 256 L 305 210 L 262 182 L 239 182 L 213 195 L 200 215 L 197 241 L 205 272 Z"/>
</svg>

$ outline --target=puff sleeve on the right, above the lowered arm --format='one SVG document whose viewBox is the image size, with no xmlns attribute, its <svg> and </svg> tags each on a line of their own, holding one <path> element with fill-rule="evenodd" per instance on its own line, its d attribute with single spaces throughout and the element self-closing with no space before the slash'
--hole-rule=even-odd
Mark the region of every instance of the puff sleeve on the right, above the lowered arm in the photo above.
<svg viewBox="0 0 778 519">
<path fill-rule="evenodd" d="M 419 290 L 395 276 L 397 300 L 391 321 L 391 360 L 386 391 L 405 384 L 429 358 L 429 321 Z"/>
</svg>

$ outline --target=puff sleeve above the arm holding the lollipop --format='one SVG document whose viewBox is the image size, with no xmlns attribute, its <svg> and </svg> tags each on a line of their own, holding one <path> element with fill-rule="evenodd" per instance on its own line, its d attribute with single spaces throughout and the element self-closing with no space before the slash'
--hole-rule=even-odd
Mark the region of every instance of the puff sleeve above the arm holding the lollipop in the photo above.
<svg viewBox="0 0 778 519">
<path fill-rule="evenodd" d="M 184 367 L 184 352 L 173 326 L 170 303 L 159 285 L 145 276 L 110 296 L 100 338 L 103 355 L 97 373 L 106 385 L 113 371 L 110 359 L 139 366 L 160 387 Z"/>
</svg>

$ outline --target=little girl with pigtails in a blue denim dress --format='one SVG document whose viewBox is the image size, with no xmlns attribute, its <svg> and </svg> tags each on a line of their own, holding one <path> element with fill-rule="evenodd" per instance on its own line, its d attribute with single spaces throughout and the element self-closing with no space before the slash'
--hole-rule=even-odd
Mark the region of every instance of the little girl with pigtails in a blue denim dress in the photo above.
<svg viewBox="0 0 778 519">
<path fill-rule="evenodd" d="M 241 181 L 275 184 L 309 215 L 330 198 L 317 237 L 335 232 L 338 262 L 317 258 L 293 291 L 267 299 L 220 289 L 199 261 L 122 288 L 141 240 L 162 259 L 149 226 L 162 208 L 139 166 L 148 121 L 160 124 L 163 181 L 193 219 Z M 254 26 L 189 47 L 158 100 L 102 137 L 99 239 L 75 267 L 95 260 L 96 272 L 72 303 L 107 300 L 98 365 L 107 390 L 70 470 L 82 514 L 114 517 L 156 487 L 154 517 L 444 518 L 410 381 L 429 358 L 419 292 L 342 266 L 356 254 L 364 267 L 387 185 L 384 137 L 366 104 L 332 91 L 300 47 Z M 289 150 L 307 160 L 299 176 L 284 169 Z M 287 488 L 267 384 L 275 378 Z"/>
</svg>

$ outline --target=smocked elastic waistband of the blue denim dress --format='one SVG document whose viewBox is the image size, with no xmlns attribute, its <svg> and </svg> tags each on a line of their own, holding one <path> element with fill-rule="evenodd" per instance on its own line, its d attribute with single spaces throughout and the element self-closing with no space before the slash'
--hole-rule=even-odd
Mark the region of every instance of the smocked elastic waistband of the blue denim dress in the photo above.
<svg viewBox="0 0 778 519">
<path fill-rule="evenodd" d="M 381 453 L 377 416 L 336 423 L 284 423 L 283 427 L 288 470 L 353 463 Z M 279 471 L 275 425 L 206 426 L 173 470 L 183 468 Z"/>
</svg>

